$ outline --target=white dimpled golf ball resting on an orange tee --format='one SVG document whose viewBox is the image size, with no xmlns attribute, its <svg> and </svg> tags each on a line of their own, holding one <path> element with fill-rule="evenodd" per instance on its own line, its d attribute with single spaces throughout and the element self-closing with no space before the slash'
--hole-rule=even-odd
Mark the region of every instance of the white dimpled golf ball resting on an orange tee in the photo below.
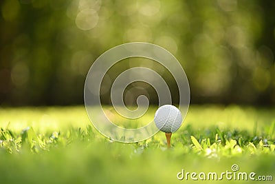
<svg viewBox="0 0 275 184">
<path fill-rule="evenodd" d="M 162 105 L 155 112 L 155 125 L 166 133 L 176 132 L 182 123 L 181 112 L 174 105 Z"/>
</svg>

